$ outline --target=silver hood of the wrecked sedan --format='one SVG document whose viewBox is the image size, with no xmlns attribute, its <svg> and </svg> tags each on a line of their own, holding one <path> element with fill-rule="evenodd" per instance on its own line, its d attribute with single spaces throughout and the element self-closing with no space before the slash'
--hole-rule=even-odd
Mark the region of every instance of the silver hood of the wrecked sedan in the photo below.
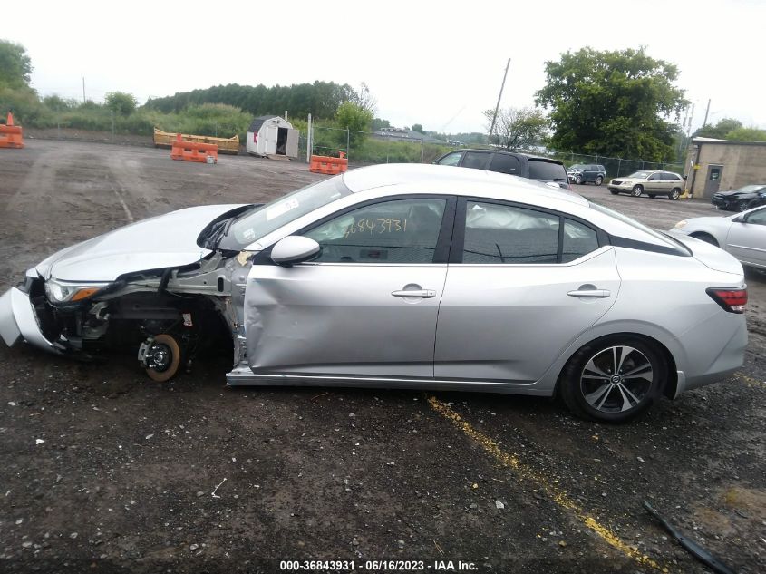
<svg viewBox="0 0 766 574">
<path fill-rule="evenodd" d="M 237 205 L 205 205 L 143 219 L 88 239 L 41 261 L 45 279 L 113 281 L 125 273 L 189 265 L 210 253 L 197 238 L 213 219 Z"/>
</svg>

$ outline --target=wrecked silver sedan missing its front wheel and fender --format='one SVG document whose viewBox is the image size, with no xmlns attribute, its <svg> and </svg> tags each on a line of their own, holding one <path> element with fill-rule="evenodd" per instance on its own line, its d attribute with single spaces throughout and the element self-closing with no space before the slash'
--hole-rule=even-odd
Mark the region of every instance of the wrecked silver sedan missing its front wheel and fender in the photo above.
<svg viewBox="0 0 766 574">
<path fill-rule="evenodd" d="M 559 395 L 620 422 L 741 366 L 746 301 L 702 241 L 514 176 L 388 165 L 64 248 L 0 297 L 0 334 L 132 343 L 157 381 L 224 338 L 228 384 Z"/>
</svg>

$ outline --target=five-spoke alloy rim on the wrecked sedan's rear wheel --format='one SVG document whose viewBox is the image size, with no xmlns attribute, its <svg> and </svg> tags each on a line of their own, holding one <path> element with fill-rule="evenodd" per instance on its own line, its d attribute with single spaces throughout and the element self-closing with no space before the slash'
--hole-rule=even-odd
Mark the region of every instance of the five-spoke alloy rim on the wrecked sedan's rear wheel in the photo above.
<svg viewBox="0 0 766 574">
<path fill-rule="evenodd" d="M 580 375 L 586 403 L 601 413 L 625 413 L 640 404 L 654 382 L 651 361 L 627 345 L 608 347 L 593 355 Z"/>
</svg>

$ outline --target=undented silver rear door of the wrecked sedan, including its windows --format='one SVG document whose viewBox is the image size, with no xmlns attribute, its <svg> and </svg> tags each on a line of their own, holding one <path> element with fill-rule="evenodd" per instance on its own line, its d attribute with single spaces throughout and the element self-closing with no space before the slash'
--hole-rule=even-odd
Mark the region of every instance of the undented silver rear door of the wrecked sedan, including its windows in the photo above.
<svg viewBox="0 0 766 574">
<path fill-rule="evenodd" d="M 537 381 L 615 303 L 620 278 L 614 249 L 600 246 L 605 240 L 556 213 L 459 201 L 436 378 Z"/>
</svg>

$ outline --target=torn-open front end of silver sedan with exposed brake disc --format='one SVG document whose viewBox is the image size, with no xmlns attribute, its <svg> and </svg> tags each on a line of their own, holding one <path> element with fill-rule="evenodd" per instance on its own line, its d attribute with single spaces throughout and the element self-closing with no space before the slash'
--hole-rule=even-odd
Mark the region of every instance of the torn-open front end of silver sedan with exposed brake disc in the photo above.
<svg viewBox="0 0 766 574">
<path fill-rule="evenodd" d="M 102 283 L 45 279 L 33 268 L 0 297 L 0 336 L 9 346 L 25 341 L 83 360 L 104 348 L 138 348 L 139 363 L 157 381 L 188 369 L 201 349 L 230 341 L 237 365 L 244 334 L 233 274 L 247 277 L 237 258 L 219 251 L 193 265 Z"/>
</svg>

